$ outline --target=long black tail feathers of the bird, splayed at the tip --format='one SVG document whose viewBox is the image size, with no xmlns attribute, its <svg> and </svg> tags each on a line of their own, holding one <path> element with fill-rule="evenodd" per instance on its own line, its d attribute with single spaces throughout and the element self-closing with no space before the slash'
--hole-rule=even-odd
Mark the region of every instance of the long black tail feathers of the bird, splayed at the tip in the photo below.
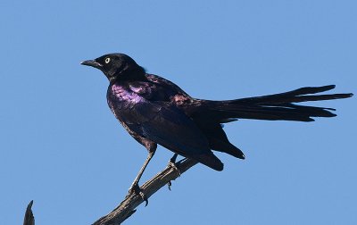
<svg viewBox="0 0 357 225">
<path fill-rule="evenodd" d="M 207 101 L 209 114 L 222 122 L 237 119 L 268 121 L 314 121 L 311 117 L 334 117 L 332 108 L 298 105 L 294 103 L 332 100 L 353 96 L 348 94 L 311 95 L 335 88 L 335 85 L 322 87 L 302 87 L 293 91 L 269 95 L 247 97 L 228 101 Z"/>
</svg>

